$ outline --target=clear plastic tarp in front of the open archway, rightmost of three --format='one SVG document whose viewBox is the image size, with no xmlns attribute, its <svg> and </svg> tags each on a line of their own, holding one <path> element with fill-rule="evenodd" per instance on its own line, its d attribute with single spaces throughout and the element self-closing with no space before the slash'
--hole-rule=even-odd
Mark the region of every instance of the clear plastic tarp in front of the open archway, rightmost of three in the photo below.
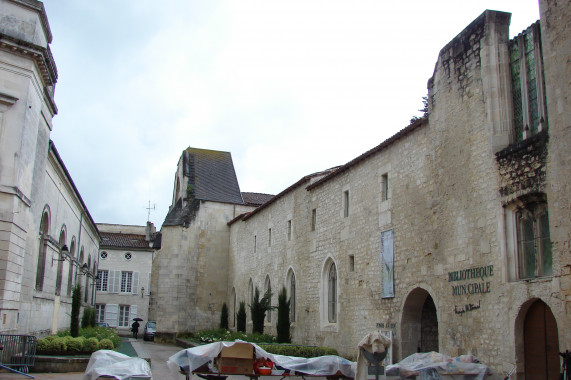
<svg viewBox="0 0 571 380">
<path fill-rule="evenodd" d="M 387 375 L 399 374 L 401 378 L 420 375 L 421 378 L 442 378 L 442 376 L 472 375 L 471 379 L 483 380 L 488 372 L 484 364 L 476 363 L 472 355 L 450 357 L 438 352 L 422 352 L 407 356 L 397 364 L 387 366 Z M 398 371 L 397 371 L 398 369 Z M 434 375 L 438 373 L 438 377 Z"/>
</svg>

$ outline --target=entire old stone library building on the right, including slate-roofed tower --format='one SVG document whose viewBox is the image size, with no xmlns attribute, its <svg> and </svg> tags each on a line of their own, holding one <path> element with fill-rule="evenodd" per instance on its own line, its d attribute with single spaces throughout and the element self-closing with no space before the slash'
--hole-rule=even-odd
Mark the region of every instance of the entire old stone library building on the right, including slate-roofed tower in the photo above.
<svg viewBox="0 0 571 380">
<path fill-rule="evenodd" d="M 482 13 L 440 51 L 425 118 L 255 209 L 227 153 L 183 152 L 153 263 L 159 332 L 285 286 L 295 343 L 356 356 L 380 329 L 394 361 L 471 353 L 554 378 L 571 346 L 571 14 L 540 8 L 513 40 L 509 13 Z"/>
</svg>

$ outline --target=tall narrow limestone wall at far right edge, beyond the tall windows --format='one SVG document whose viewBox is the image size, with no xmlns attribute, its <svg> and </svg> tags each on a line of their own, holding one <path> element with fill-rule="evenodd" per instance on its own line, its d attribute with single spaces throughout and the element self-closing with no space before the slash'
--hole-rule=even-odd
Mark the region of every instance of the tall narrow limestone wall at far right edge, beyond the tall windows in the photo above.
<svg viewBox="0 0 571 380">
<path fill-rule="evenodd" d="M 549 228 L 553 241 L 553 289 L 560 292 L 558 319 L 560 351 L 571 346 L 571 4 L 565 1 L 542 0 L 541 33 L 549 143 L 547 157 L 547 198 Z"/>
</svg>

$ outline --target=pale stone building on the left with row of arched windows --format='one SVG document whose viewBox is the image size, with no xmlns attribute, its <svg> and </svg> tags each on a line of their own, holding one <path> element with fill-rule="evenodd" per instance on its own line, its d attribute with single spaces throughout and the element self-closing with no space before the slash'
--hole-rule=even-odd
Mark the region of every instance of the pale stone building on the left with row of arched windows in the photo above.
<svg viewBox="0 0 571 380">
<path fill-rule="evenodd" d="M 0 1 L 0 331 L 69 327 L 93 300 L 99 232 L 54 143 L 57 69 L 43 4 Z"/>
</svg>

